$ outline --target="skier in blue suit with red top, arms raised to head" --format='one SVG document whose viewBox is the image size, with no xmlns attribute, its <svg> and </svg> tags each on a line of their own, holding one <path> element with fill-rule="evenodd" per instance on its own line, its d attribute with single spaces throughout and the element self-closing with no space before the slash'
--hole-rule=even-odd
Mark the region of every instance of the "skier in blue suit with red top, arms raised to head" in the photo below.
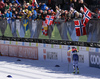
<svg viewBox="0 0 100 79">
<path fill-rule="evenodd" d="M 77 52 L 79 52 L 75 47 L 72 47 L 71 50 L 69 50 L 68 52 L 71 52 L 72 51 L 72 59 L 73 59 L 73 73 L 76 72 L 76 69 L 77 68 L 77 74 L 79 74 L 79 68 L 78 68 L 78 60 L 79 60 L 79 57 L 78 57 L 78 54 Z"/>
</svg>

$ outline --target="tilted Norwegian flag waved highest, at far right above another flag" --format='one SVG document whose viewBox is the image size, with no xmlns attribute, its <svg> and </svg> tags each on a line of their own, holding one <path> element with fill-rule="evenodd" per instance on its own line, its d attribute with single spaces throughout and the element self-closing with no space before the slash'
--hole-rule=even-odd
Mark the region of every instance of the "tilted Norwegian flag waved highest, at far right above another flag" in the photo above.
<svg viewBox="0 0 100 79">
<path fill-rule="evenodd" d="M 90 10 L 86 6 L 84 6 L 84 14 L 83 14 L 83 25 L 84 26 L 86 26 L 88 21 L 91 19 L 91 15 L 92 13 L 90 12 Z"/>
</svg>

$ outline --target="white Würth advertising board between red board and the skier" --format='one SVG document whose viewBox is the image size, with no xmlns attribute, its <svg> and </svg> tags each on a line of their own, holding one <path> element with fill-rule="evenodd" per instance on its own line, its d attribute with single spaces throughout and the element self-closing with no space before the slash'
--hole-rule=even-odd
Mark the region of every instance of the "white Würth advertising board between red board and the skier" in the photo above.
<svg viewBox="0 0 100 79">
<path fill-rule="evenodd" d="M 39 60 L 61 61 L 61 49 L 38 47 Z"/>
</svg>

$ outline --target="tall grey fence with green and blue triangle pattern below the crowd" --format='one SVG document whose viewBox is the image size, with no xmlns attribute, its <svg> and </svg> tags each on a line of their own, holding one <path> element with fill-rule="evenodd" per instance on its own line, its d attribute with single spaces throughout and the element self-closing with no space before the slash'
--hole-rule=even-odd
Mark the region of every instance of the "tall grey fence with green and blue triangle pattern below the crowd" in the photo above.
<svg viewBox="0 0 100 79">
<path fill-rule="evenodd" d="M 39 43 L 97 46 L 100 42 L 100 20 L 92 19 L 86 26 L 87 35 L 76 36 L 74 21 L 55 20 L 42 34 L 42 20 L 0 20 L 0 39 Z"/>
</svg>

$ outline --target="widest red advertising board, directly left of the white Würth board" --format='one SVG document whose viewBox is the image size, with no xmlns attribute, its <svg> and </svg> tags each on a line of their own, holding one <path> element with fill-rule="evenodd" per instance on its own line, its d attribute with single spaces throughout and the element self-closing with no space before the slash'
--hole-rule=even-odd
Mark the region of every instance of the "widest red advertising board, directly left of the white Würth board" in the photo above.
<svg viewBox="0 0 100 79">
<path fill-rule="evenodd" d="M 18 57 L 38 60 L 38 48 L 30 46 L 18 46 Z"/>
</svg>

